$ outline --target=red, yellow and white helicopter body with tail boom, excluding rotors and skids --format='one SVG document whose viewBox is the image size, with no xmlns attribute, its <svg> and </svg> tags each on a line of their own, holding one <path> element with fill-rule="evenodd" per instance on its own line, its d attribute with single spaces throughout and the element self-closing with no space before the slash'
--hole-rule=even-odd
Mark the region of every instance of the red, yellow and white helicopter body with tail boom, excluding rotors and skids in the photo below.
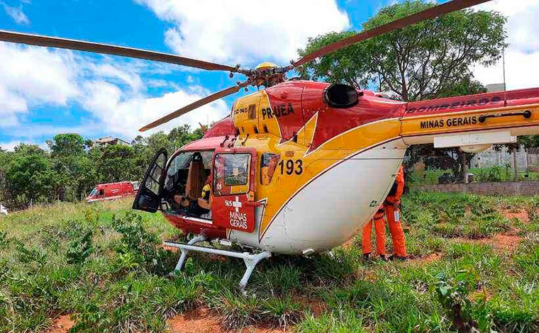
<svg viewBox="0 0 539 333">
<path fill-rule="evenodd" d="M 213 154 L 213 218 L 170 211 L 165 218 L 186 232 L 273 253 L 325 252 L 372 218 L 409 145 L 539 133 L 539 89 L 404 103 L 369 91 L 354 101 L 344 86 L 331 94 L 330 87 L 287 81 L 235 101 L 230 117 L 167 163 L 184 152 Z M 248 164 L 226 166 L 228 154 Z M 219 176 L 228 171 L 243 183 Z"/>
</svg>

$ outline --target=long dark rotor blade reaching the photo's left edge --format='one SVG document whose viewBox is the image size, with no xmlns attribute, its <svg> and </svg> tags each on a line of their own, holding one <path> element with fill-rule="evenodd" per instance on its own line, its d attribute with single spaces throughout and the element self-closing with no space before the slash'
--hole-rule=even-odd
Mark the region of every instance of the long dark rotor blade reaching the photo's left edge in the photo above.
<svg viewBox="0 0 539 333">
<path fill-rule="evenodd" d="M 68 50 L 95 52 L 105 55 L 119 55 L 121 57 L 132 57 L 157 62 L 168 62 L 170 64 L 181 64 L 183 66 L 196 67 L 211 71 L 240 72 L 238 67 L 226 66 L 224 64 L 215 64 L 213 62 L 180 57 L 178 55 L 171 55 L 168 53 L 140 50 L 132 47 L 84 42 L 82 40 L 30 35 L 28 33 L 14 33 L 6 30 L 0 30 L 0 40 L 10 43 L 57 47 Z"/>
</svg>

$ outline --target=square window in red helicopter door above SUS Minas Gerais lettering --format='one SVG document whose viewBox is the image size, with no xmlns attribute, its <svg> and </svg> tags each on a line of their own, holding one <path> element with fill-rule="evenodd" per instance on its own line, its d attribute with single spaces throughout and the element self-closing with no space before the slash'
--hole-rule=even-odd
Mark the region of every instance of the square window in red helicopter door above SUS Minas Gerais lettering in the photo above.
<svg viewBox="0 0 539 333">
<path fill-rule="evenodd" d="M 213 165 L 213 194 L 247 193 L 249 189 L 250 154 L 218 154 Z"/>
</svg>

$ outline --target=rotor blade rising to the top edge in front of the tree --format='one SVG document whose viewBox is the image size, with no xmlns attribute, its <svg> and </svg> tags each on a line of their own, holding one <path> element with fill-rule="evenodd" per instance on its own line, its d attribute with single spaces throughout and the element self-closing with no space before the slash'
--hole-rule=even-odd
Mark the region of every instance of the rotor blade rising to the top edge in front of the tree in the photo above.
<svg viewBox="0 0 539 333">
<path fill-rule="evenodd" d="M 420 11 L 413 15 L 406 16 L 404 18 L 399 18 L 398 20 L 393 21 L 391 23 L 384 24 L 383 26 L 379 26 L 371 30 L 363 31 L 361 33 L 357 33 L 356 35 L 350 36 L 349 38 L 345 38 L 343 40 L 339 40 L 338 42 L 332 43 L 330 45 L 326 45 L 322 47 L 321 49 L 316 50 L 315 52 L 309 53 L 309 55 L 305 55 L 304 57 L 297 60 L 296 62 L 292 62 L 292 65 L 294 67 L 298 67 L 301 64 L 305 64 L 306 62 L 310 62 L 311 60 L 314 60 L 318 57 L 327 55 L 330 52 L 340 50 L 343 47 L 347 47 L 349 45 L 361 42 L 363 40 L 367 40 L 369 38 L 373 38 L 378 35 L 383 35 L 384 33 L 389 33 L 393 30 L 397 30 L 400 28 L 404 28 L 406 26 L 410 26 L 412 24 L 419 23 L 421 21 L 428 20 L 429 18 L 442 16 L 447 13 L 451 13 L 452 11 L 460 11 L 460 9 L 465 9 L 471 6 L 475 6 L 477 4 L 482 4 L 487 1 L 491 1 L 491 0 L 448 1 L 445 4 L 434 6 L 432 8 L 426 9 L 424 11 Z"/>
</svg>

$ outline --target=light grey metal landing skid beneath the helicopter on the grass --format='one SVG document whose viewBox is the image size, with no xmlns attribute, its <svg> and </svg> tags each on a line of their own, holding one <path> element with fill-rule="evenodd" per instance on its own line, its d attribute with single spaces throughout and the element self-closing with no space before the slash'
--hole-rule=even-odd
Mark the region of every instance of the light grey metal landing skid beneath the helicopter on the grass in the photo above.
<svg viewBox="0 0 539 333">
<path fill-rule="evenodd" d="M 243 259 L 243 262 L 245 262 L 245 266 L 247 267 L 245 269 L 245 273 L 243 274 L 243 278 L 241 278 L 240 281 L 240 289 L 244 289 L 245 286 L 247 286 L 247 283 L 249 281 L 249 278 L 251 277 L 252 271 L 255 270 L 255 266 L 262 260 L 267 259 L 272 256 L 271 252 L 260 252 L 259 254 L 250 254 L 249 252 L 237 252 L 237 251 L 228 251 L 228 250 L 222 250 L 222 249 L 214 249 L 213 247 L 199 247 L 195 246 L 194 244 L 199 242 L 204 242 L 206 240 L 206 237 L 204 236 L 196 236 L 193 239 L 191 239 L 187 244 L 182 243 L 176 243 L 176 242 L 163 242 L 163 244 L 167 247 L 177 247 L 182 251 L 182 256 L 179 257 L 178 263 L 176 264 L 176 268 L 174 271 L 170 272 L 170 276 L 174 276 L 175 271 L 181 271 L 182 267 L 184 266 L 185 259 L 187 258 L 187 253 L 189 251 L 197 251 L 197 252 L 206 252 L 206 253 L 213 253 L 213 254 L 219 254 L 221 256 L 233 256 L 234 258 L 240 258 Z"/>
</svg>

